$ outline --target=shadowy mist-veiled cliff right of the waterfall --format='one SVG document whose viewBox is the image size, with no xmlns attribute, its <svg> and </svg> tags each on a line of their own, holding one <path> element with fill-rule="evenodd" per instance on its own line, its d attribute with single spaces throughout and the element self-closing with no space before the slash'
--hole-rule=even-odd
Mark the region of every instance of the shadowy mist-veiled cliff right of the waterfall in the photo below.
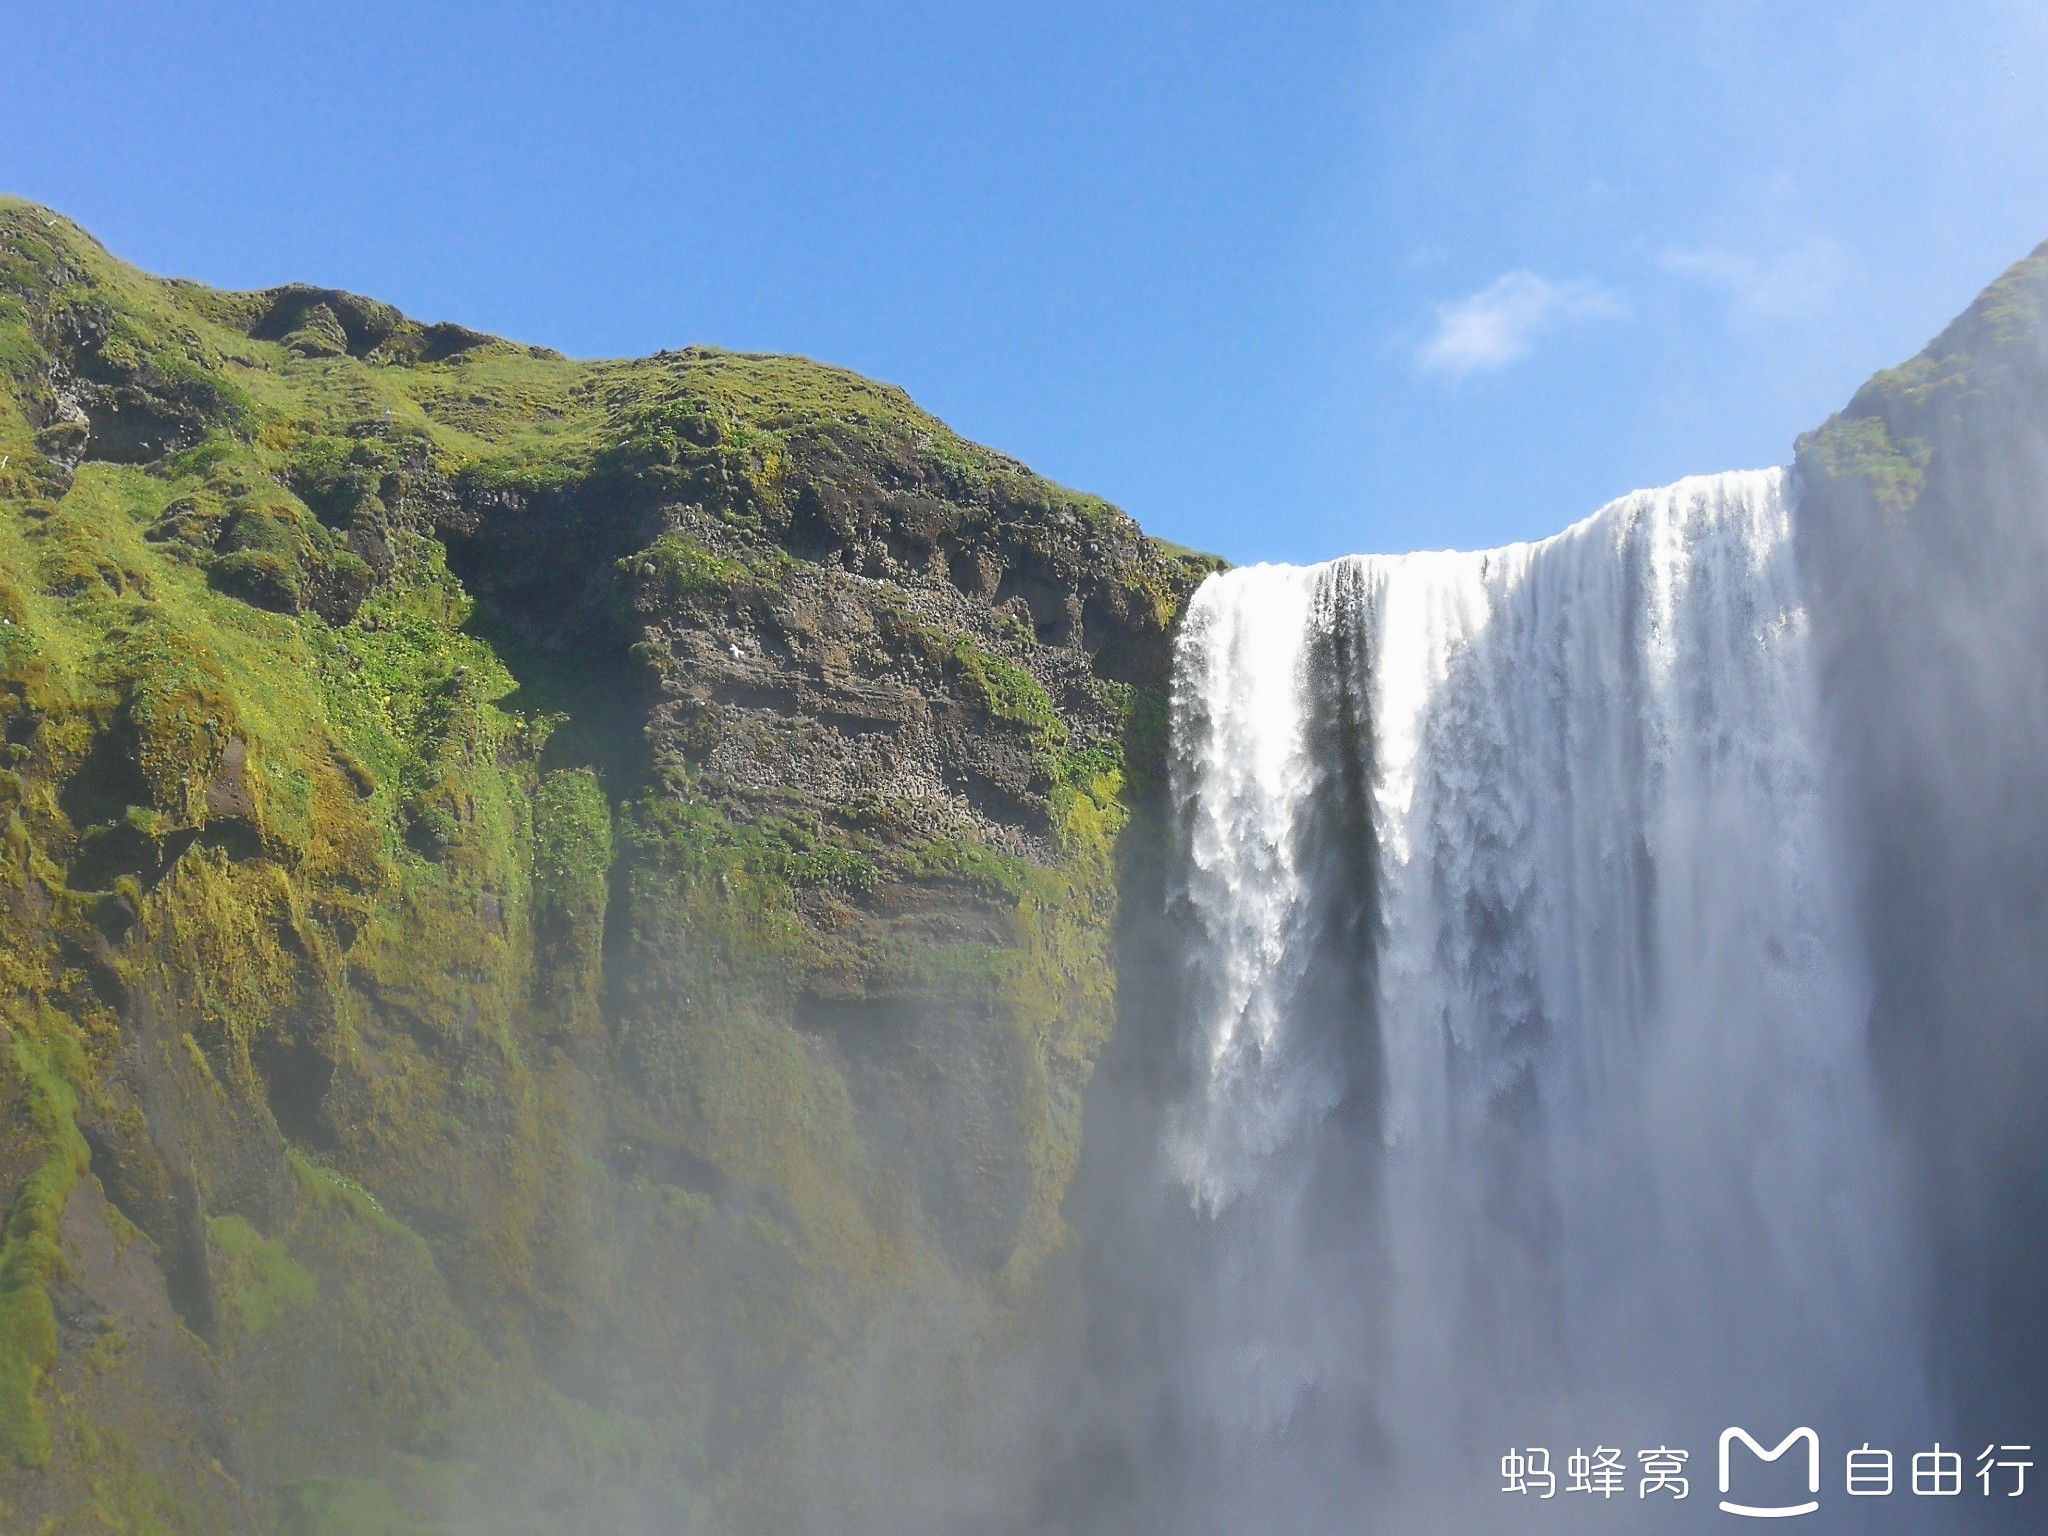
<svg viewBox="0 0 2048 1536">
<path fill-rule="evenodd" d="M 1798 444 L 1872 1038 L 1970 1434 L 2048 1376 L 2048 246 Z"/>
</svg>

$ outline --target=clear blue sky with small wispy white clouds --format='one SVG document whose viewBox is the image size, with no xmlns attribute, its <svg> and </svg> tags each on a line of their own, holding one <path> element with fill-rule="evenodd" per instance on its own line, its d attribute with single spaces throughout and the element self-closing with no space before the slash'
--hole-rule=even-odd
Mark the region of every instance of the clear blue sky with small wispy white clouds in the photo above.
<svg viewBox="0 0 2048 1536">
<path fill-rule="evenodd" d="M 2048 238 L 2040 0 L 4 6 L 160 272 L 905 385 L 1233 559 L 1782 463 Z"/>
</svg>

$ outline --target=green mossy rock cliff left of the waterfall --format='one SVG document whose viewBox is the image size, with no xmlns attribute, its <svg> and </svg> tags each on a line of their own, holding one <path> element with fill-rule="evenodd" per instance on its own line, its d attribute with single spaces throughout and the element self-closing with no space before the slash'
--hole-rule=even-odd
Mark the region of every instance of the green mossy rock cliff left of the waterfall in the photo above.
<svg viewBox="0 0 2048 1536">
<path fill-rule="evenodd" d="M 834 369 L 0 203 L 0 1518 L 973 1481 L 1202 569 Z"/>
</svg>

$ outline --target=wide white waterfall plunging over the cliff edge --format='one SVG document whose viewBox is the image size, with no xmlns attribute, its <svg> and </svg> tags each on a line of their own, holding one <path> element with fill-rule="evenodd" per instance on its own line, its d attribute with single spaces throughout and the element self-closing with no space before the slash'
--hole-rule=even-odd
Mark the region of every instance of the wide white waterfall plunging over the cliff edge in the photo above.
<svg viewBox="0 0 2048 1536">
<path fill-rule="evenodd" d="M 1137 1528 L 1671 1530 L 1499 1458 L 1688 1448 L 1690 1520 L 1729 1423 L 1821 1430 L 1831 1528 L 1931 1423 L 1790 502 L 1196 594 Z"/>
</svg>

